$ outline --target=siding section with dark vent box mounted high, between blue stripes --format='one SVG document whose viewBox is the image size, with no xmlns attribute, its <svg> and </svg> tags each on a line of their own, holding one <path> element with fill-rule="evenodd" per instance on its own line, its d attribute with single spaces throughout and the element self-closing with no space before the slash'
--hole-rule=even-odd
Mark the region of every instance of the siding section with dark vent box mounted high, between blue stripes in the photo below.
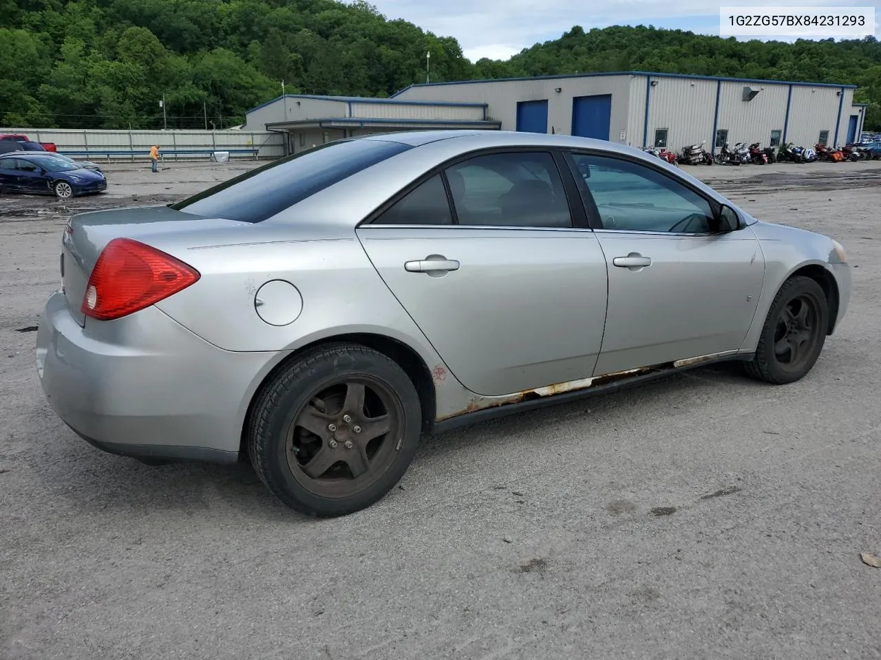
<svg viewBox="0 0 881 660">
<path fill-rule="evenodd" d="M 744 87 L 759 90 L 751 101 L 743 100 Z M 793 91 L 798 89 L 793 88 Z M 786 121 L 788 84 L 722 83 L 719 128 L 728 129 L 729 143 L 761 142 L 770 146 L 771 131 L 783 130 Z"/>
</svg>

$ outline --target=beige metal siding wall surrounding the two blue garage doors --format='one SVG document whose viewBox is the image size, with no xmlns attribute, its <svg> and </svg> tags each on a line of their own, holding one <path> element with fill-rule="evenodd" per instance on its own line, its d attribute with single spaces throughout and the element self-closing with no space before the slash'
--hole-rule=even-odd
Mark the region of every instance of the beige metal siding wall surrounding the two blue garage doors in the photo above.
<svg viewBox="0 0 881 660">
<path fill-rule="evenodd" d="M 501 121 L 502 130 L 517 128 L 517 101 L 548 100 L 548 132 L 569 135 L 572 129 L 572 99 L 577 96 L 611 94 L 612 142 L 627 136 L 629 92 L 632 76 L 574 77 L 535 80 L 499 80 L 490 83 L 441 84 L 411 87 L 397 99 L 486 103 L 487 119 Z M 556 89 L 559 88 L 559 92 Z"/>
</svg>

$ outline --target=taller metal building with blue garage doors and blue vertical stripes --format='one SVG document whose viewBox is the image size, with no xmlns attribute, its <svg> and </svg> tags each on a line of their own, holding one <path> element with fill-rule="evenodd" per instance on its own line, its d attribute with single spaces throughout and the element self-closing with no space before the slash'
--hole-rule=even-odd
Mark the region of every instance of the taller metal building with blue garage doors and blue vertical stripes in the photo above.
<svg viewBox="0 0 881 660">
<path fill-rule="evenodd" d="M 414 84 L 393 99 L 483 102 L 503 130 L 680 150 L 705 142 L 840 145 L 859 139 L 855 85 L 645 71 Z"/>
</svg>

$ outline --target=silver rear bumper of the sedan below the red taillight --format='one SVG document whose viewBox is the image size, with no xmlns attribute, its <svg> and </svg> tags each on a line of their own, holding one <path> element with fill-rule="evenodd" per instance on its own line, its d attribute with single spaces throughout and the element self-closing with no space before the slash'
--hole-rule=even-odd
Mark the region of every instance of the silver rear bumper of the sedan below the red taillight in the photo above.
<svg viewBox="0 0 881 660">
<path fill-rule="evenodd" d="M 49 297 L 37 372 L 56 414 L 104 451 L 136 458 L 231 463 L 256 384 L 275 354 L 233 353 L 155 307 L 79 326 Z"/>
</svg>

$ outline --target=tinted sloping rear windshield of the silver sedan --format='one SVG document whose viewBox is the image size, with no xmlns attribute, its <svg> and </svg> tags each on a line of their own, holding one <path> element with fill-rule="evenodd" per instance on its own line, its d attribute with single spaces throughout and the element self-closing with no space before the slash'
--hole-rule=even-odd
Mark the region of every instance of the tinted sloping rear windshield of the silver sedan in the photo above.
<svg viewBox="0 0 881 660">
<path fill-rule="evenodd" d="M 259 223 L 337 181 L 410 146 L 379 140 L 341 140 L 257 167 L 171 208 L 204 217 Z"/>
</svg>

